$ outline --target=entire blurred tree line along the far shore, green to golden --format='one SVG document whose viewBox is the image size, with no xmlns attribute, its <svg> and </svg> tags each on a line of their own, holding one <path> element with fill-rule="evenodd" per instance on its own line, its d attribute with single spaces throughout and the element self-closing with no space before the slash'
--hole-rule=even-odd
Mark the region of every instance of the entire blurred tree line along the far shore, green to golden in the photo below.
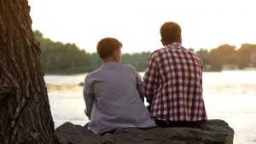
<svg viewBox="0 0 256 144">
<path fill-rule="evenodd" d="M 74 43 L 53 42 L 49 38 L 44 38 L 43 34 L 38 31 L 34 31 L 34 37 L 40 43 L 41 60 L 45 73 L 92 72 L 102 65 L 97 53 L 89 54 L 84 49 L 79 49 Z M 256 67 L 256 44 L 242 44 L 240 49 L 224 44 L 216 49 L 200 49 L 195 52 L 201 55 L 205 71 L 221 71 L 224 67 L 230 69 Z M 122 63 L 129 63 L 137 71 L 143 72 L 150 54 L 149 51 L 123 54 Z"/>
</svg>

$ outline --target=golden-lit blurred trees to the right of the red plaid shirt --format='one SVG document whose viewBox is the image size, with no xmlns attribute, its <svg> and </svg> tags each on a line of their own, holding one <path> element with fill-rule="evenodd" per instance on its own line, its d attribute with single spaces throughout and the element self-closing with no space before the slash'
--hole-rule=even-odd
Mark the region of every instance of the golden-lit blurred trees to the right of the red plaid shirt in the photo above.
<svg viewBox="0 0 256 144">
<path fill-rule="evenodd" d="M 256 44 L 244 43 L 239 49 L 224 44 L 216 49 L 200 49 L 196 53 L 201 56 L 205 71 L 256 67 Z"/>
</svg>

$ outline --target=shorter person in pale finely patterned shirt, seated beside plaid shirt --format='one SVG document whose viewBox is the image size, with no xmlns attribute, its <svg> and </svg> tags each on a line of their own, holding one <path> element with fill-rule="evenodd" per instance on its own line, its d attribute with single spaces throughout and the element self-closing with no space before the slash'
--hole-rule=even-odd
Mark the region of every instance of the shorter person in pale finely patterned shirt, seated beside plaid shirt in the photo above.
<svg viewBox="0 0 256 144">
<path fill-rule="evenodd" d="M 122 43 L 112 37 L 97 43 L 102 66 L 84 80 L 85 114 L 90 119 L 88 130 L 95 134 L 155 126 L 137 91 L 139 74 L 133 66 L 120 64 L 121 47 Z"/>
</svg>

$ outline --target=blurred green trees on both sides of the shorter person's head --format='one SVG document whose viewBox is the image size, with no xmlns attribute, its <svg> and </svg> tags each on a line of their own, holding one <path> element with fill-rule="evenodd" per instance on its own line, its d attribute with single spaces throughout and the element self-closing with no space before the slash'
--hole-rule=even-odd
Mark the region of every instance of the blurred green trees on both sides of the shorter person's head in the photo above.
<svg viewBox="0 0 256 144">
<path fill-rule="evenodd" d="M 45 73 L 72 74 L 79 72 L 92 72 L 102 65 L 102 60 L 97 53 L 89 54 L 84 49 L 79 49 L 74 43 L 54 42 L 44 38 L 39 31 L 33 32 L 40 43 L 41 61 Z M 150 52 L 124 54 L 123 63 L 130 63 L 138 71 L 145 71 Z"/>
</svg>

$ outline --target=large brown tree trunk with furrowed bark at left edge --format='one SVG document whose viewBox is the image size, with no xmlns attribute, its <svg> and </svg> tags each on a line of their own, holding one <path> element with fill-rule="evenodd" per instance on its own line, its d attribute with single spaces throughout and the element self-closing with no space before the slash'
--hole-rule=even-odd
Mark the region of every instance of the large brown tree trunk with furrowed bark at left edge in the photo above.
<svg viewBox="0 0 256 144">
<path fill-rule="evenodd" d="M 27 0 L 0 0 L 0 143 L 58 143 Z"/>
</svg>

